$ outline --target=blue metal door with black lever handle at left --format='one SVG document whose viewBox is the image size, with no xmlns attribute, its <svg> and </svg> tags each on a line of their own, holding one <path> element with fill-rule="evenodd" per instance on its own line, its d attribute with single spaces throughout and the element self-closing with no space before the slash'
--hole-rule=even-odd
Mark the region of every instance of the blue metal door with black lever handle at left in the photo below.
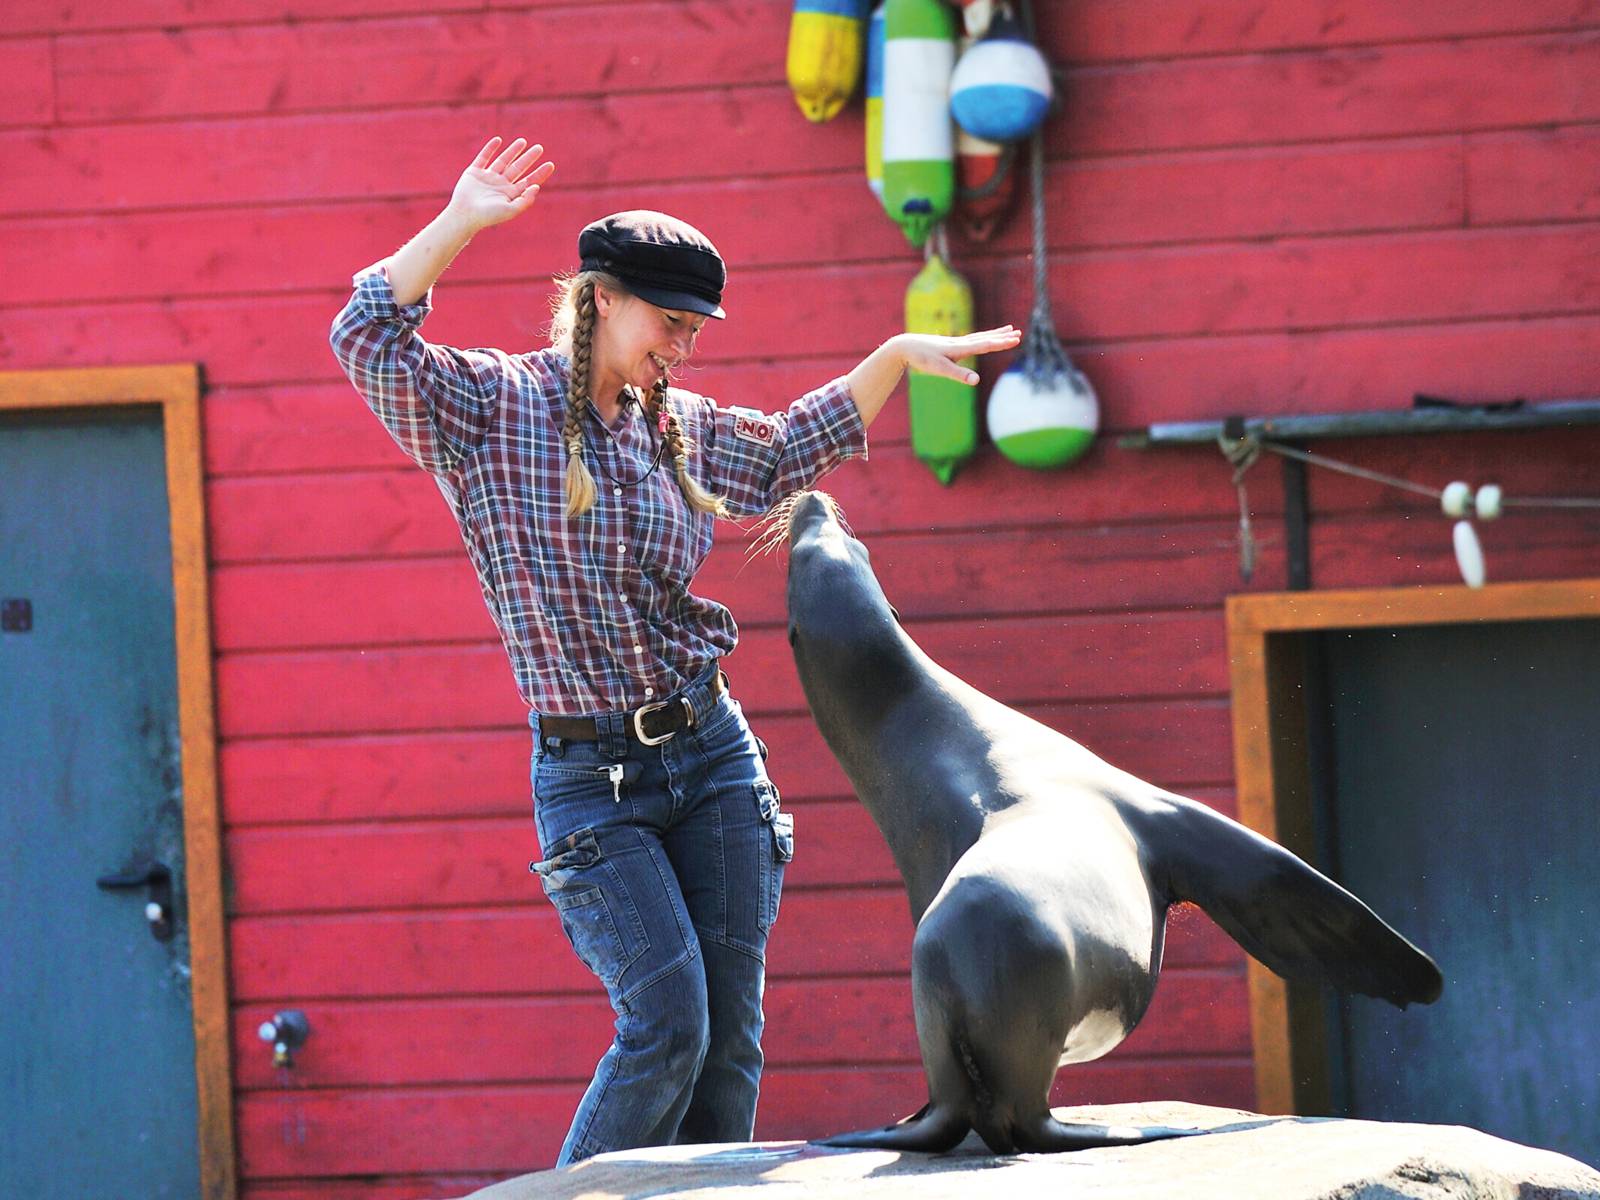
<svg viewBox="0 0 1600 1200">
<path fill-rule="evenodd" d="M 0 418 L 0 1195 L 194 1197 L 158 411 Z"/>
</svg>

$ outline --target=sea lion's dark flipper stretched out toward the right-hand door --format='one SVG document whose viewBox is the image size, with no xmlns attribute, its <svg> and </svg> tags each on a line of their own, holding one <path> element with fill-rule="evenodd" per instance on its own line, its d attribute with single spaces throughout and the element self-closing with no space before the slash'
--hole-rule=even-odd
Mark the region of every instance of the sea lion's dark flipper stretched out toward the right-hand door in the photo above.
<svg viewBox="0 0 1600 1200">
<path fill-rule="evenodd" d="M 1328 982 L 1405 1008 L 1443 989 L 1434 960 L 1283 846 L 1173 797 L 1158 859 L 1171 899 L 1194 901 L 1285 979 Z"/>
</svg>

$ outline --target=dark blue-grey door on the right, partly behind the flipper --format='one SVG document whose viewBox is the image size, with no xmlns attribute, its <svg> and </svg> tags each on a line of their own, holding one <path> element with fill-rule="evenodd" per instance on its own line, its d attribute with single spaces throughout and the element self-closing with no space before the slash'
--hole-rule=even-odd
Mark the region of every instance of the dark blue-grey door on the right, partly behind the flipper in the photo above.
<svg viewBox="0 0 1600 1200">
<path fill-rule="evenodd" d="M 1600 1163 L 1600 621 L 1323 646 L 1334 872 L 1445 973 L 1429 1008 L 1339 1005 L 1344 1110 Z"/>
</svg>

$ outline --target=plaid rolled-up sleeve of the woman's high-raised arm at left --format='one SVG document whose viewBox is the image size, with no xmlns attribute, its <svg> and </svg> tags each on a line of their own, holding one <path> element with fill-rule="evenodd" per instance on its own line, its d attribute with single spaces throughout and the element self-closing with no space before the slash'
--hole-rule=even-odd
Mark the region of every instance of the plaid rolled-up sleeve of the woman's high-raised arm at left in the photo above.
<svg viewBox="0 0 1600 1200">
<path fill-rule="evenodd" d="M 424 341 L 418 326 L 432 310 L 432 288 L 400 306 L 381 262 L 352 283 L 328 336 L 339 366 L 413 462 L 435 475 L 453 470 L 488 434 L 502 355 Z"/>
</svg>

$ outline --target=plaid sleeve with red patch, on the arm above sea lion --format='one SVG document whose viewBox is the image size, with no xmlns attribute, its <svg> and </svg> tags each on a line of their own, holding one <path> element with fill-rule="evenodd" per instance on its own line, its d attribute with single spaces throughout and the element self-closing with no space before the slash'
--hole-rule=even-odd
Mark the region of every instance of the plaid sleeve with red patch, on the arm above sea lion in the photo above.
<svg viewBox="0 0 1600 1200">
<path fill-rule="evenodd" d="M 722 408 L 699 398 L 699 438 L 712 491 L 738 517 L 768 512 L 851 458 L 867 456 L 867 427 L 845 376 L 782 413 Z"/>
</svg>

